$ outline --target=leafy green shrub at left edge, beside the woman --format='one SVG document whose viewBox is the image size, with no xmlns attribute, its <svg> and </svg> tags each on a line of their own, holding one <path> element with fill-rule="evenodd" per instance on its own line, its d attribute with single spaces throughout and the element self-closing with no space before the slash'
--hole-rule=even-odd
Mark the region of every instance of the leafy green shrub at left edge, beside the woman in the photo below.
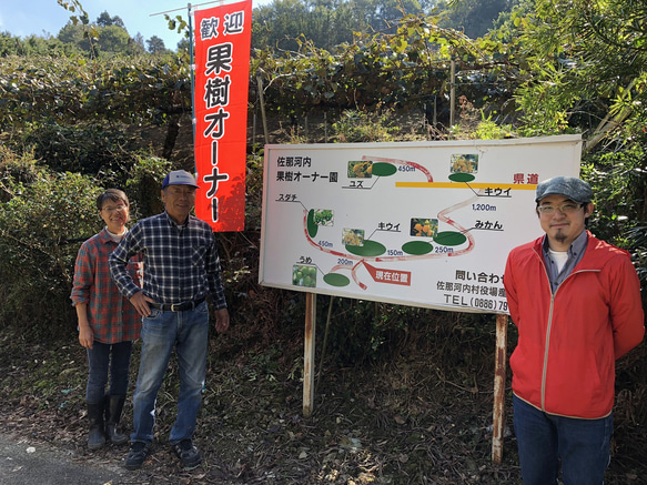
<svg viewBox="0 0 647 485">
<path fill-rule="evenodd" d="M 69 294 L 80 242 L 101 226 L 99 189 L 90 178 L 54 173 L 29 154 L 0 152 L 0 322 L 60 330 L 71 319 Z"/>
</svg>

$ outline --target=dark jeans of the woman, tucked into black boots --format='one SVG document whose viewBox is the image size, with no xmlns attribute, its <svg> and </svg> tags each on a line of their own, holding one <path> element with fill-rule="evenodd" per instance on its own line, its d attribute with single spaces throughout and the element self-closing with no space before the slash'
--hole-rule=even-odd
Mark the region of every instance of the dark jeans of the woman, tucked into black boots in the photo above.
<svg viewBox="0 0 647 485">
<path fill-rule="evenodd" d="M 128 373 L 130 370 L 130 356 L 132 342 L 118 344 L 104 344 L 94 341 L 92 348 L 88 348 L 88 364 L 90 375 L 85 387 L 85 401 L 101 403 L 105 395 L 108 384 L 108 371 L 110 370 L 110 395 L 124 396 L 128 391 Z"/>
</svg>

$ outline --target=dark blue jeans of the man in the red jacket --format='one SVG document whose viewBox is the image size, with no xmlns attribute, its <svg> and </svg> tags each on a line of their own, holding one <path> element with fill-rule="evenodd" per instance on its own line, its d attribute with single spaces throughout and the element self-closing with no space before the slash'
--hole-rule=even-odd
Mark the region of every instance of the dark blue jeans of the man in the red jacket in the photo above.
<svg viewBox="0 0 647 485">
<path fill-rule="evenodd" d="M 543 413 L 513 395 L 524 485 L 601 485 L 610 461 L 611 415 L 577 420 Z"/>
</svg>

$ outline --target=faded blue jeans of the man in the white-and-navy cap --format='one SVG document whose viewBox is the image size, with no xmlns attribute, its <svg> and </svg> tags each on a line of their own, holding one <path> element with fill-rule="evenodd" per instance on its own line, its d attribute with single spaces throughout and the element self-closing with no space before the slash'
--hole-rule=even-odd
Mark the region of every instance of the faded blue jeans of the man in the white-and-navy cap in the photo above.
<svg viewBox="0 0 647 485">
<path fill-rule="evenodd" d="M 175 444 L 193 436 L 206 368 L 209 307 L 202 302 L 193 311 L 165 312 L 151 309 L 142 320 L 142 352 L 133 396 L 132 442 L 152 443 L 155 401 L 169 360 L 175 347 L 180 368 L 178 416 L 169 441 Z"/>
</svg>

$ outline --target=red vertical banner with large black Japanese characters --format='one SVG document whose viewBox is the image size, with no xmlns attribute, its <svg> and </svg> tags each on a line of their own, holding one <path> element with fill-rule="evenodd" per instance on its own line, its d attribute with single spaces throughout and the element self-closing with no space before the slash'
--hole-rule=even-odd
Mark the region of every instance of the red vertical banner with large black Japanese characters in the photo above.
<svg viewBox="0 0 647 485">
<path fill-rule="evenodd" d="M 195 215 L 214 231 L 242 231 L 252 0 L 198 10 L 194 19 Z"/>
</svg>

